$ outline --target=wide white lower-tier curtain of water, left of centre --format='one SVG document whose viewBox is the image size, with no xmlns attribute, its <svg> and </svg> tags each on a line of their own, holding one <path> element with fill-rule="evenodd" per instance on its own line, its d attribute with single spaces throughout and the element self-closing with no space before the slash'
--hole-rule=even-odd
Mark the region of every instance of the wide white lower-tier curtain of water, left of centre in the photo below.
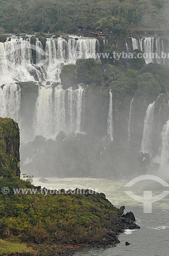
<svg viewBox="0 0 169 256">
<path fill-rule="evenodd" d="M 40 87 L 34 117 L 34 134 L 53 138 L 61 131 L 80 132 L 84 89 Z"/>
</svg>

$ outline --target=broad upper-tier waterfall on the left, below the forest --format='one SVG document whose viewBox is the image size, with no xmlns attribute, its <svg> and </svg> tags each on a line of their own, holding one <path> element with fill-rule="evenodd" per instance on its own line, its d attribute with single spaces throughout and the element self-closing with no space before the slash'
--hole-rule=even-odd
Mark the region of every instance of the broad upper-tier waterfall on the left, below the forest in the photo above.
<svg viewBox="0 0 169 256">
<path fill-rule="evenodd" d="M 69 37 L 47 38 L 43 50 L 36 38 L 11 37 L 0 42 L 0 85 L 17 81 L 60 82 L 60 74 L 65 65 L 75 64 L 78 58 L 95 58 L 96 38 Z M 35 64 L 34 64 L 35 63 Z"/>
</svg>

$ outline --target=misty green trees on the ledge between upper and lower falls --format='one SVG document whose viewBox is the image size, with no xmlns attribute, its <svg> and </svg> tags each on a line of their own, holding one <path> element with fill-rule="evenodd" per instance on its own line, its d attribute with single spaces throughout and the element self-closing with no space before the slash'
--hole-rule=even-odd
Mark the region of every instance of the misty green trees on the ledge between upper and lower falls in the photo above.
<svg viewBox="0 0 169 256">
<path fill-rule="evenodd" d="M 137 53 L 138 50 L 135 51 Z M 146 66 L 143 58 L 128 59 L 123 66 L 121 61 L 116 66 L 109 62 L 101 66 L 94 59 L 78 59 L 76 65 L 63 68 L 61 80 L 64 86 L 78 83 L 101 86 L 104 81 L 116 99 L 122 100 L 126 95 L 133 97 L 135 94 L 154 101 L 159 93 L 169 92 L 168 74 L 168 67 L 155 63 Z"/>
</svg>

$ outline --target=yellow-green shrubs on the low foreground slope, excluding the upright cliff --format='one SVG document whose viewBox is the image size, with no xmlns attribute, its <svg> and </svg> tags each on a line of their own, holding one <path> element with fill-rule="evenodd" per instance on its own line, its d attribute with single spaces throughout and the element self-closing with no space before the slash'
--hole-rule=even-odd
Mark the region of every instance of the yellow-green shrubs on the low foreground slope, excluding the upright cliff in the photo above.
<svg viewBox="0 0 169 256">
<path fill-rule="evenodd" d="M 11 188 L 9 180 L 0 181 L 1 188 L 4 182 Z M 13 184 L 28 186 L 16 180 Z M 36 195 L 1 194 L 0 199 L 1 238 L 8 234 L 27 242 L 104 243 L 106 228 L 112 225 L 110 216 L 118 217 L 118 209 L 103 194 L 44 196 L 39 190 Z"/>
</svg>

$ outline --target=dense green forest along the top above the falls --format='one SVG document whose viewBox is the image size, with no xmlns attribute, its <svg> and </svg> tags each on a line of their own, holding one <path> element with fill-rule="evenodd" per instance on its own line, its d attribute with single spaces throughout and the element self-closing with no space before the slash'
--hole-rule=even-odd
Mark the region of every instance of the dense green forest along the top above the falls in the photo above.
<svg viewBox="0 0 169 256">
<path fill-rule="evenodd" d="M 0 33 L 169 27 L 168 0 L 0 0 Z"/>
</svg>

